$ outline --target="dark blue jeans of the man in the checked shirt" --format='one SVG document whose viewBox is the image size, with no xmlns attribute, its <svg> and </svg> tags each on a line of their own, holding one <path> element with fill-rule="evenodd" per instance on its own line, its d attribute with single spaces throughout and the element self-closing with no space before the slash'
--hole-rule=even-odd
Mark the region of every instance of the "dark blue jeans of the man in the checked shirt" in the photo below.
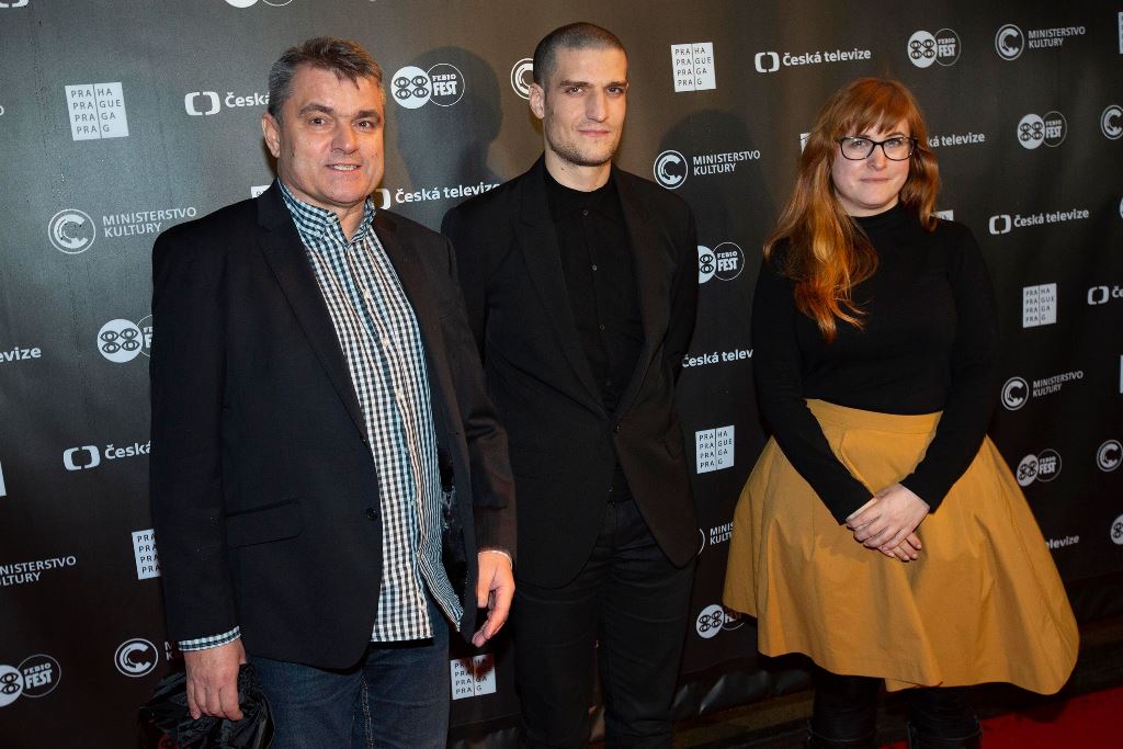
<svg viewBox="0 0 1123 749">
<path fill-rule="evenodd" d="M 433 637 L 372 642 L 344 670 L 249 656 L 273 711 L 271 749 L 440 749 L 451 696 L 448 623 L 430 602 Z"/>
</svg>

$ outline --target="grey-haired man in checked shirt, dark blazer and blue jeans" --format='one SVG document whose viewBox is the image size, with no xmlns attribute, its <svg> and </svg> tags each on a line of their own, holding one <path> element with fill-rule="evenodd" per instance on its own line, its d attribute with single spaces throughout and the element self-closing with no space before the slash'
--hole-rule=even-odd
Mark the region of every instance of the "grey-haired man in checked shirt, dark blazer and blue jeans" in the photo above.
<svg viewBox="0 0 1123 749">
<path fill-rule="evenodd" d="M 506 438 L 439 235 L 369 194 L 385 98 L 358 45 L 270 74 L 262 197 L 154 252 L 152 506 L 192 713 L 237 719 L 254 664 L 274 749 L 444 747 L 448 627 L 513 595 Z M 359 745 L 351 745 L 359 746 Z"/>
</svg>

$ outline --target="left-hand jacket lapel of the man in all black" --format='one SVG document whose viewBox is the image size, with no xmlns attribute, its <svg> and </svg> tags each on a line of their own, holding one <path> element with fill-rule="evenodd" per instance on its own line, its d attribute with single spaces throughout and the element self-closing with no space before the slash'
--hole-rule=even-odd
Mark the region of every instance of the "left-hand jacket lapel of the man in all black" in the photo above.
<svg viewBox="0 0 1123 749">
<path fill-rule="evenodd" d="M 566 291 L 557 230 L 546 198 L 545 168 L 545 161 L 539 158 L 520 181 L 521 200 L 515 238 L 530 272 L 530 282 L 542 302 L 546 319 L 557 335 L 562 353 L 577 375 L 585 394 L 597 410 L 603 411 L 600 391 L 593 382 L 593 371 L 577 335 L 577 322 Z"/>
</svg>

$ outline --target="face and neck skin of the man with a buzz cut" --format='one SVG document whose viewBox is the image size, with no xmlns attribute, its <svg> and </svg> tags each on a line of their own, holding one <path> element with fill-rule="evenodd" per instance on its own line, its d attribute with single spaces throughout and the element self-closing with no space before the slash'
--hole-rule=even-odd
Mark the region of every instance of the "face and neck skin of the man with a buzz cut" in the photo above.
<svg viewBox="0 0 1123 749">
<path fill-rule="evenodd" d="M 546 168 L 567 188 L 596 190 L 609 180 L 628 109 L 628 57 L 611 47 L 562 47 L 530 110 L 542 120 Z"/>
</svg>

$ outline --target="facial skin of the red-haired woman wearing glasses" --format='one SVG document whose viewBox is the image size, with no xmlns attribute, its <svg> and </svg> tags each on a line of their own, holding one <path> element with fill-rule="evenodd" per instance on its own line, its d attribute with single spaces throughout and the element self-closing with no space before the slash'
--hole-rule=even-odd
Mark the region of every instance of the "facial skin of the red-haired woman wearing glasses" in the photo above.
<svg viewBox="0 0 1123 749">
<path fill-rule="evenodd" d="M 887 130 L 851 133 L 855 137 L 884 140 L 893 136 L 909 136 L 909 124 L 901 120 Z M 831 183 L 834 197 L 850 216 L 875 216 L 897 204 L 901 188 L 909 179 L 910 158 L 894 162 L 885 157 L 880 146 L 874 148 L 869 158 L 852 162 L 844 158 L 838 146 L 831 162 Z"/>
</svg>

